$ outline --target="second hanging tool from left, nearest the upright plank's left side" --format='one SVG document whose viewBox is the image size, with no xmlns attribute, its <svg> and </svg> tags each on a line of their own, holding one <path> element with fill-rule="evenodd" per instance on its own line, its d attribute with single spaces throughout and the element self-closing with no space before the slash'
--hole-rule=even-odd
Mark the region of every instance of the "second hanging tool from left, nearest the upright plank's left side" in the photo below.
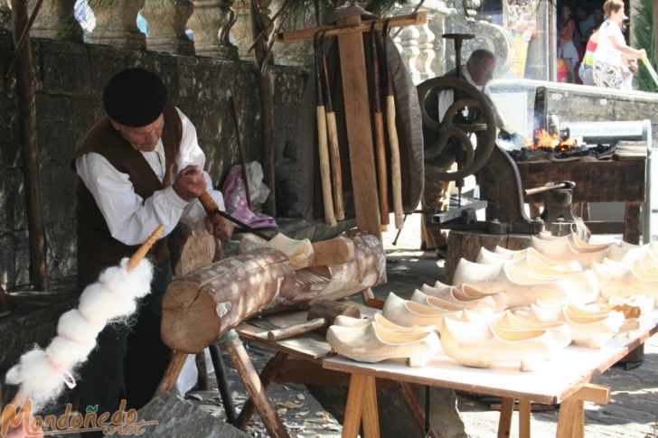
<svg viewBox="0 0 658 438">
<path fill-rule="evenodd" d="M 320 68 L 323 70 L 324 81 L 324 109 L 326 110 L 326 128 L 329 136 L 329 157 L 331 159 L 332 182 L 334 182 L 334 212 L 336 220 L 345 219 L 345 206 L 343 201 L 343 172 L 341 170 L 341 152 L 338 148 L 338 130 L 336 129 L 336 115 L 332 104 L 332 90 L 329 86 L 329 71 L 326 67 L 323 42 L 324 32 L 320 35 L 316 56 L 321 56 Z"/>
</svg>

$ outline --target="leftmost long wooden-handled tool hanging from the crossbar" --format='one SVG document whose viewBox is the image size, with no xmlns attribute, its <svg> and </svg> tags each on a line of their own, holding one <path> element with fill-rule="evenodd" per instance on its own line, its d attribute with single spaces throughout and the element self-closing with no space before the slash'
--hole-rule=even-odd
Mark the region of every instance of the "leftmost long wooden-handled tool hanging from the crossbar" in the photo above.
<svg viewBox="0 0 658 438">
<path fill-rule="evenodd" d="M 318 34 L 315 33 L 313 46 L 315 49 L 315 117 L 317 119 L 317 147 L 318 156 L 320 158 L 320 179 L 322 182 L 324 221 L 334 227 L 336 225 L 336 218 L 334 216 L 334 200 L 332 199 L 332 184 L 329 176 L 331 169 L 329 167 L 329 148 L 327 146 L 326 113 L 324 111 L 321 68 L 318 55 L 318 51 L 321 51 L 322 47 L 320 47 L 319 42 L 320 39 Z"/>
</svg>

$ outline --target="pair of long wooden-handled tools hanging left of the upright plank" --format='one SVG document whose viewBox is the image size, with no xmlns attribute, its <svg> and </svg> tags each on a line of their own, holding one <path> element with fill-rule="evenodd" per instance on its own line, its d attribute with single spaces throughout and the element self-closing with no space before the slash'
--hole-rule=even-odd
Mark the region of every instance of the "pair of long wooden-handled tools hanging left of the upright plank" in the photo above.
<svg viewBox="0 0 658 438">
<path fill-rule="evenodd" d="M 336 225 L 336 220 L 345 219 L 345 209 L 343 201 L 343 172 L 341 171 L 341 154 L 338 147 L 336 116 L 332 104 L 329 72 L 324 57 L 324 32 L 315 33 L 313 38 L 315 58 L 315 116 L 317 118 L 317 144 L 320 158 L 324 221 L 330 226 L 334 226 Z"/>
</svg>

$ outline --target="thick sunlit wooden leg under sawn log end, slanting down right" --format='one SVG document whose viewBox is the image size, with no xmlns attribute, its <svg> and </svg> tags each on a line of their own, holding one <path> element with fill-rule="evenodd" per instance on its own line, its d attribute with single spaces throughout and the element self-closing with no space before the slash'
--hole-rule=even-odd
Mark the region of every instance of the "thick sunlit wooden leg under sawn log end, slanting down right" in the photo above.
<svg viewBox="0 0 658 438">
<path fill-rule="evenodd" d="M 254 369 L 254 366 L 249 359 L 249 355 L 247 354 L 247 350 L 244 349 L 244 345 L 242 345 L 242 341 L 238 337 L 238 333 L 231 330 L 229 334 L 224 337 L 223 345 L 226 346 L 230 359 L 233 361 L 233 365 L 235 365 L 235 369 L 238 371 L 238 375 L 240 375 L 242 383 L 247 389 L 247 393 L 249 394 L 249 397 L 251 397 L 269 435 L 273 438 L 287 438 L 288 434 L 286 427 L 281 423 L 281 419 L 278 418 L 272 400 L 270 400 L 265 393 L 260 378 L 258 377 L 258 373 L 256 372 L 256 369 Z"/>
</svg>

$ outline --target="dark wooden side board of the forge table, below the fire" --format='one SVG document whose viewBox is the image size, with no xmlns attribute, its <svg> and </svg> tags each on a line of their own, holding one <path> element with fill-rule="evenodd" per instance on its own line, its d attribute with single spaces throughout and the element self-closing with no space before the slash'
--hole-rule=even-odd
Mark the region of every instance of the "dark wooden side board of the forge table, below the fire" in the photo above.
<svg viewBox="0 0 658 438">
<path fill-rule="evenodd" d="M 516 163 L 523 187 L 550 181 L 576 182 L 574 202 L 644 202 L 646 159 L 637 161 L 575 161 Z M 526 197 L 526 202 L 533 200 Z"/>
</svg>

